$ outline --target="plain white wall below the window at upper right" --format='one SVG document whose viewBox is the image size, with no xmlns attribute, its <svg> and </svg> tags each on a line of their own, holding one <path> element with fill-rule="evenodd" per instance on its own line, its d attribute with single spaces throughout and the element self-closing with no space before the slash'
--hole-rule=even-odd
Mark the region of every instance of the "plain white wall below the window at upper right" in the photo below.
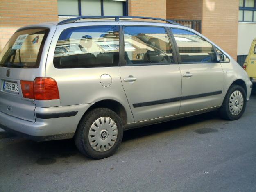
<svg viewBox="0 0 256 192">
<path fill-rule="evenodd" d="M 247 55 L 254 38 L 256 38 L 256 23 L 238 23 L 237 55 Z"/>
</svg>

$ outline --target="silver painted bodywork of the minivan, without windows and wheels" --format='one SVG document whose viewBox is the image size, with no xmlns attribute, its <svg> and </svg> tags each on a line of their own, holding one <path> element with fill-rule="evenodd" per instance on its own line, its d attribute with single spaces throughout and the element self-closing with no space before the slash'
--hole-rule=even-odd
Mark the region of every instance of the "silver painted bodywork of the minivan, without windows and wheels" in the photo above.
<svg viewBox="0 0 256 192">
<path fill-rule="evenodd" d="M 127 113 L 124 129 L 145 126 L 172 119 L 212 111 L 222 105 L 231 84 L 240 79 L 251 95 L 251 81 L 247 73 L 226 52 L 193 29 L 165 23 L 137 21 L 76 22 L 65 25 L 44 23 L 29 27 L 48 27 L 50 32 L 43 47 L 40 66 L 36 69 L 0 67 L 0 124 L 32 136 L 50 136 L 75 133 L 77 125 L 88 108 L 104 100 L 119 102 Z M 152 66 L 116 66 L 102 68 L 57 69 L 53 66 L 54 50 L 61 32 L 70 27 L 93 25 L 148 25 L 187 29 L 206 39 L 224 52 L 229 63 L 170 64 Z M 2 58 L 2 54 L 0 55 Z M 122 63 L 121 63 L 122 64 Z M 10 69 L 10 77 L 7 70 Z M 184 77 L 189 72 L 192 76 Z M 102 79 L 103 74 L 111 76 Z M 51 77 L 57 81 L 60 99 L 37 101 L 19 95 L 4 93 L 3 80 L 34 81 L 36 77 Z M 101 80 L 102 79 L 102 80 Z M 103 86 L 102 86 L 103 85 Z M 134 108 L 132 104 L 176 98 L 222 90 L 222 94 L 188 99 L 165 104 Z M 11 108 L 11 110 L 8 110 Z M 36 113 L 78 111 L 74 117 L 39 119 Z"/>
</svg>

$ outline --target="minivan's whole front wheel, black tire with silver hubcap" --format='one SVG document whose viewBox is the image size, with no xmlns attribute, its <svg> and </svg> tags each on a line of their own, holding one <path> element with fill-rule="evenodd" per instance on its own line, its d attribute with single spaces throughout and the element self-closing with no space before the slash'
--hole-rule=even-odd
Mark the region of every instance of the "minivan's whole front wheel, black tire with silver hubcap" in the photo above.
<svg viewBox="0 0 256 192">
<path fill-rule="evenodd" d="M 237 100 L 238 102 L 236 102 Z M 244 88 L 239 85 L 232 85 L 229 88 L 222 106 L 219 109 L 220 116 L 226 120 L 237 120 L 245 112 L 246 103 L 247 100 Z"/>
</svg>

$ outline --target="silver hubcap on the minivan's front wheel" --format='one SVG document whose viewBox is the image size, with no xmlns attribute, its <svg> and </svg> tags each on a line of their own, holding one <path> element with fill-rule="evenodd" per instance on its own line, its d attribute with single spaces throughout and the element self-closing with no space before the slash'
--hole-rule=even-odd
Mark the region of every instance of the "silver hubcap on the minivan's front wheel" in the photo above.
<svg viewBox="0 0 256 192">
<path fill-rule="evenodd" d="M 229 112 L 232 115 L 241 113 L 244 107 L 244 97 L 239 90 L 234 91 L 229 97 Z"/>
</svg>

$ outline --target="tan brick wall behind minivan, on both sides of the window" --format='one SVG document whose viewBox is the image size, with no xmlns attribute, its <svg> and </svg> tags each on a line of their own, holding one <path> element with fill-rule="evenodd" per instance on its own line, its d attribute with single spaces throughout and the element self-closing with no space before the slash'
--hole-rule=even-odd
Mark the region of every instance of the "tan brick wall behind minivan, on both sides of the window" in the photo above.
<svg viewBox="0 0 256 192">
<path fill-rule="evenodd" d="M 236 58 L 238 0 L 129 0 L 129 15 L 202 20 L 202 33 Z M 0 51 L 19 27 L 57 20 L 57 0 L 0 0 Z"/>
</svg>

